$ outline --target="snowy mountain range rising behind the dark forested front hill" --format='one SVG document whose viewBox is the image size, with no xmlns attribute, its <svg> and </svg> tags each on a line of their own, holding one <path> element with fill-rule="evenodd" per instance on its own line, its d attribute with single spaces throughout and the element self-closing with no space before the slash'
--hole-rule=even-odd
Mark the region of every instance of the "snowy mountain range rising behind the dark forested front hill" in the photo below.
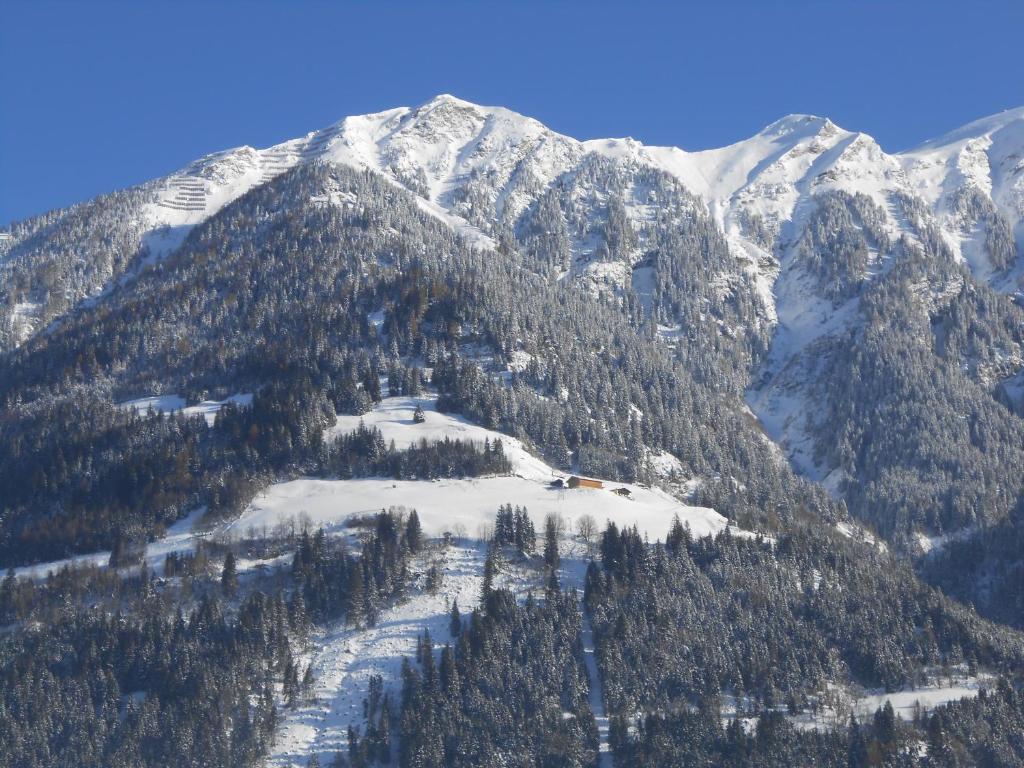
<svg viewBox="0 0 1024 768">
<path fill-rule="evenodd" d="M 412 191 L 467 242 L 621 302 L 691 365 L 695 347 L 728 349 L 731 385 L 794 467 L 902 545 L 1004 519 L 1020 498 L 1019 479 L 996 475 L 1013 474 L 1024 434 L 1024 108 L 898 154 L 806 115 L 690 153 L 580 141 L 440 95 L 15 222 L 0 244 L 0 345 L 52 328 L 240 196 L 309 163 Z M 343 198 L 327 189 L 315 202 L 356 203 Z M 890 306 L 907 316 L 894 324 Z M 843 389 L 865 367 L 877 393 L 901 386 L 900 372 L 865 360 L 876 332 L 910 345 L 922 375 L 941 371 L 919 404 L 943 423 L 914 429 L 954 445 L 942 469 L 880 447 L 867 432 L 893 415 Z M 1009 431 L 1005 452 L 970 427 L 993 420 Z M 927 490 L 893 501 L 907 473 Z M 957 473 L 966 489 L 933 482 Z"/>
</svg>

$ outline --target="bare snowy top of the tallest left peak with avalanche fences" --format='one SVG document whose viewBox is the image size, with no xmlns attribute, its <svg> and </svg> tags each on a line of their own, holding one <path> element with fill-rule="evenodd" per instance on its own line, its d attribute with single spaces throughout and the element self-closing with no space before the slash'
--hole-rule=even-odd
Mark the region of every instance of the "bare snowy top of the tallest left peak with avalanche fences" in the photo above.
<svg viewBox="0 0 1024 768">
<path fill-rule="evenodd" d="M 546 185 L 582 155 L 580 142 L 536 120 L 440 95 L 415 110 L 345 118 L 266 150 L 242 146 L 196 161 L 163 179 L 160 199 L 147 212 L 147 243 L 156 256 L 167 253 L 227 203 L 315 160 L 379 172 L 423 198 L 424 210 L 464 230 L 464 219 L 474 213 L 518 214 L 530 199 L 509 187 Z M 471 190 L 477 194 L 481 178 L 490 198 L 486 211 L 465 200 Z M 472 229 L 468 233 L 476 240 Z"/>
</svg>

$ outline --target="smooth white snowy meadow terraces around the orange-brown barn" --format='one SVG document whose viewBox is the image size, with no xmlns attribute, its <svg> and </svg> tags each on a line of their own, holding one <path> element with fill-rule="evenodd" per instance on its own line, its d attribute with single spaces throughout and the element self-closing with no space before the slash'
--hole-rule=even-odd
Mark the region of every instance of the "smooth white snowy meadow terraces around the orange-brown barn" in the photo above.
<svg viewBox="0 0 1024 768">
<path fill-rule="evenodd" d="M 165 412 L 184 410 L 191 415 L 202 415 L 209 421 L 224 402 L 246 404 L 250 398 L 248 394 L 232 395 L 224 401 L 211 400 L 185 408 L 184 400 L 177 395 L 163 395 L 129 400 L 119 407 L 136 410 L 153 408 Z M 698 537 L 718 534 L 729 525 L 729 521 L 715 510 L 684 504 L 653 486 L 605 481 L 604 488 L 600 489 L 551 487 L 554 478 L 567 478 L 566 473 L 535 457 L 514 437 L 480 427 L 456 414 L 439 413 L 435 403 L 436 396 L 430 394 L 386 397 L 361 417 L 339 416 L 326 439 L 330 439 L 332 434 L 352 431 L 362 422 L 381 430 L 385 441 L 393 440 L 398 449 L 420 440 L 444 438 L 478 444 L 484 440 L 501 440 L 512 465 L 511 474 L 457 480 L 394 480 L 386 477 L 332 480 L 306 477 L 279 482 L 258 495 L 239 517 L 213 527 L 197 527 L 206 510 L 194 511 L 169 528 L 165 537 L 148 545 L 146 562 L 152 570 L 159 573 L 167 553 L 191 551 L 200 539 L 243 537 L 250 530 L 269 531 L 279 523 L 289 521 L 323 527 L 329 534 L 345 535 L 349 532 L 347 523 L 353 517 L 375 514 L 391 507 L 417 510 L 428 536 L 439 537 L 450 532 L 457 538 L 471 540 L 479 539 L 494 522 L 498 508 L 509 503 L 526 507 L 538 530 L 543 529 L 545 517 L 549 514 L 561 517 L 569 532 L 574 530 L 574 522 L 580 517 L 590 515 L 602 528 L 606 521 L 612 521 L 620 527 L 637 525 L 652 541 L 665 539 L 677 515 Z M 425 416 L 421 424 L 413 420 L 417 406 Z M 629 497 L 612 493 L 616 488 L 628 488 Z M 752 536 L 750 531 L 736 527 L 732 527 L 731 532 Z M 22 567 L 17 572 L 19 575 L 44 578 L 68 565 L 103 565 L 110 554 L 103 551 L 38 563 Z"/>
</svg>

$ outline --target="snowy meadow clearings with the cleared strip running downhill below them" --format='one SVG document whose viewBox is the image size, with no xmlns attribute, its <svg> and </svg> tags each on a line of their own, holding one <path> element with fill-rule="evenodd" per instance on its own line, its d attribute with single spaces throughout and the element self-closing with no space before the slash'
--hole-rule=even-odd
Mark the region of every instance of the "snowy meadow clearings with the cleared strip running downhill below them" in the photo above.
<svg viewBox="0 0 1024 768">
<path fill-rule="evenodd" d="M 231 399 L 239 401 L 245 397 L 239 395 Z M 728 524 L 714 510 L 683 504 L 654 487 L 606 482 L 604 488 L 553 488 L 550 481 L 554 477 L 565 477 L 564 473 L 532 456 L 519 440 L 460 416 L 439 413 L 435 402 L 433 395 L 387 397 L 361 417 L 339 416 L 327 436 L 351 431 L 362 422 L 381 430 L 385 440 L 393 440 L 398 449 L 420 440 L 444 438 L 479 443 L 501 440 L 512 465 L 512 474 L 434 481 L 303 478 L 281 482 L 260 494 L 236 520 L 206 529 L 194 527 L 204 512 L 198 510 L 145 550 L 148 567 L 159 574 L 167 554 L 193 551 L 202 539 L 229 539 L 250 531 L 272 531 L 279 523 L 289 520 L 323 527 L 329 536 L 347 537 L 353 530 L 347 525 L 353 517 L 391 507 L 416 509 L 430 538 L 439 538 L 445 532 L 454 535 L 451 546 L 431 546 L 416 558 L 412 570 L 417 575 L 408 599 L 386 607 L 376 625 L 352 628 L 336 623 L 313 632 L 300 658 L 302 668 L 309 667 L 313 673 L 313 688 L 299 706 L 283 711 L 269 765 L 304 766 L 311 755 L 328 764 L 335 754 L 347 748 L 349 726 L 365 728 L 362 701 L 373 677 L 381 676 L 385 689 L 392 696 L 397 695 L 402 659 L 415 654 L 417 640 L 424 631 L 429 631 L 438 644 L 452 641 L 449 634 L 452 603 L 457 600 L 461 609 L 467 612 L 476 606 L 486 549 L 481 538 L 490 528 L 501 505 L 524 505 L 538 529 L 543 529 L 544 519 L 549 514 L 562 518 L 565 525 L 560 543 L 562 566 L 559 577 L 565 587 L 581 591 L 589 545 L 577 536 L 574 522 L 583 515 L 591 515 L 600 527 L 606 520 L 621 527 L 635 524 L 651 540 L 664 540 L 676 515 L 696 536 L 717 534 Z M 195 412 L 209 415 L 207 407 L 219 403 L 204 403 Z M 164 395 L 120 406 L 173 411 L 183 409 L 184 401 L 176 395 Z M 413 419 L 417 406 L 424 412 L 422 423 Z M 629 488 L 630 498 L 612 493 L 622 487 Z M 737 536 L 750 536 L 737 528 L 731 530 Z M 109 552 L 100 552 L 28 566 L 18 569 L 17 573 L 43 579 L 63 566 L 92 564 L 101 567 L 109 558 Z M 273 562 L 284 564 L 290 558 L 291 554 L 287 553 L 275 557 Z M 257 561 L 241 560 L 239 570 L 246 572 L 258 564 Z M 271 563 L 263 561 L 263 564 Z M 441 586 L 435 592 L 428 591 L 424 585 L 423 574 L 430 564 L 437 565 L 443 573 Z M 543 574 L 528 563 L 521 566 L 507 563 L 497 584 L 520 595 L 527 590 L 540 592 L 543 591 Z M 597 680 L 592 633 L 585 635 L 584 643 L 591 675 Z M 602 764 L 607 764 L 608 725 L 607 718 L 601 714 L 603 703 L 599 692 L 592 696 L 592 701 L 599 715 Z"/>
</svg>

